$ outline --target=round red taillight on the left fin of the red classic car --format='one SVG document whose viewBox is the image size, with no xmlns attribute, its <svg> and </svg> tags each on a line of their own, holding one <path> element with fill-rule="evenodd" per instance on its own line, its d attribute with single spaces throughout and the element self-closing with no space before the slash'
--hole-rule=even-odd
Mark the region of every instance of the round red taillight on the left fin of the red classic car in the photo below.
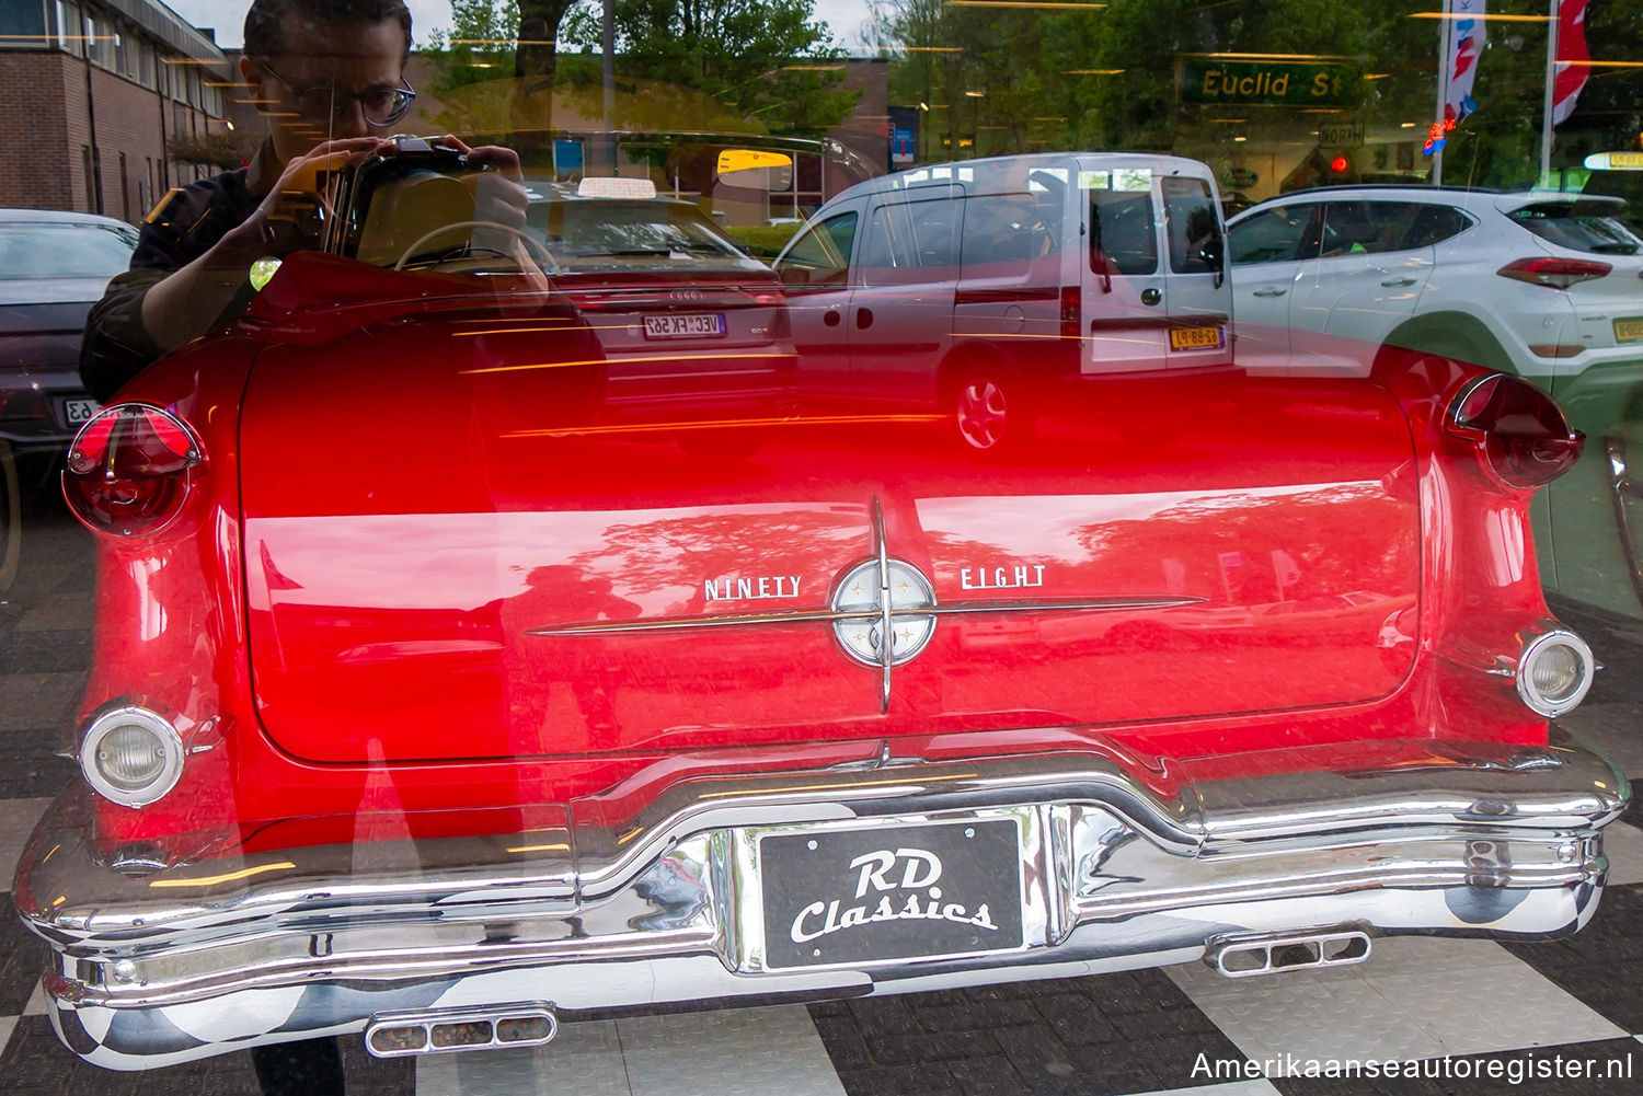
<svg viewBox="0 0 1643 1096">
<path fill-rule="evenodd" d="M 169 411 L 120 404 L 92 417 L 62 468 L 62 498 L 92 532 L 136 536 L 182 513 L 205 454 Z"/>
</svg>

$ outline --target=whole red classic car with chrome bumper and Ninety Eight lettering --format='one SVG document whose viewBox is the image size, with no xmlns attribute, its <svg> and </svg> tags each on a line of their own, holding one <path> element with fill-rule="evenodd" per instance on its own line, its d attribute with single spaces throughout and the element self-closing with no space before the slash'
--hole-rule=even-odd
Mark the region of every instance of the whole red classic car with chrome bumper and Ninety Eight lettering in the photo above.
<svg viewBox="0 0 1643 1096">
<path fill-rule="evenodd" d="M 455 232 L 286 260 L 74 444 L 85 781 L 15 899 L 89 1061 L 1592 917 L 1630 792 L 1554 723 L 1594 665 L 1536 578 L 1581 449 L 1541 391 L 1160 375 L 1122 409 L 1170 429 L 1091 399 L 1001 458 L 749 408 L 780 332 L 715 350 L 708 278 L 621 320 L 688 396 L 631 419 L 587 381 L 633 284 Z"/>
</svg>

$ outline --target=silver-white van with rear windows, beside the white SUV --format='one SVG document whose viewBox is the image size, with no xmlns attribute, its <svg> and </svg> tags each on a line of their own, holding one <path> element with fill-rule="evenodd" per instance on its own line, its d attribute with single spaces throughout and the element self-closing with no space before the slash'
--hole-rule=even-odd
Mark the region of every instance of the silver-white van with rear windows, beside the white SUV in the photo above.
<svg viewBox="0 0 1643 1096">
<path fill-rule="evenodd" d="M 969 449 L 1007 452 L 1070 398 L 1229 368 L 1219 210 L 1206 164 L 1140 153 L 858 182 L 774 263 L 805 399 L 935 409 Z"/>
</svg>

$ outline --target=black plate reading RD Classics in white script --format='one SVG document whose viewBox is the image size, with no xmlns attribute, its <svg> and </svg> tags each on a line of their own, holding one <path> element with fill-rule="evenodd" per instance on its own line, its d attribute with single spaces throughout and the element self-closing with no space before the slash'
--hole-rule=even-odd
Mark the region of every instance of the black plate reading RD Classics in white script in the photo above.
<svg viewBox="0 0 1643 1096">
<path fill-rule="evenodd" d="M 1022 946 L 1014 818 L 759 838 L 769 969 Z"/>
</svg>

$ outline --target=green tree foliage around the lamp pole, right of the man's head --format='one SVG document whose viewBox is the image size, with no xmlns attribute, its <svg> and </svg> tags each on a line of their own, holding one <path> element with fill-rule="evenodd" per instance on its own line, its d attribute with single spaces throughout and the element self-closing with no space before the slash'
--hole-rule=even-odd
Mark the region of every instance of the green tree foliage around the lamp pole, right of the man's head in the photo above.
<svg viewBox="0 0 1643 1096">
<path fill-rule="evenodd" d="M 843 87 L 813 0 L 614 0 L 616 71 L 705 92 L 772 130 L 813 133 L 843 120 L 858 92 Z M 583 0 L 564 39 L 596 53 L 601 7 Z M 682 120 L 685 122 L 685 120 Z"/>
</svg>

